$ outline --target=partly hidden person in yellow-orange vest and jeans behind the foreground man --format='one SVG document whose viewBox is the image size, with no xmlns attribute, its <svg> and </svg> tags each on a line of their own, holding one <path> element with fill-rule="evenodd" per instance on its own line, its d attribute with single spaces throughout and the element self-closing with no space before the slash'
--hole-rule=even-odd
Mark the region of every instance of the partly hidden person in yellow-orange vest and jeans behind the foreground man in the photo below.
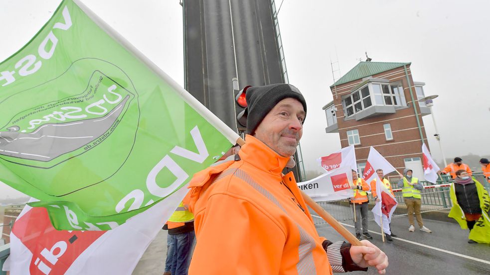
<svg viewBox="0 0 490 275">
<path fill-rule="evenodd" d="M 168 218 L 167 227 L 168 237 L 173 240 L 173 255 L 167 255 L 172 257 L 171 270 L 166 270 L 163 275 L 187 275 L 195 233 L 194 215 L 183 202 Z"/>
</svg>

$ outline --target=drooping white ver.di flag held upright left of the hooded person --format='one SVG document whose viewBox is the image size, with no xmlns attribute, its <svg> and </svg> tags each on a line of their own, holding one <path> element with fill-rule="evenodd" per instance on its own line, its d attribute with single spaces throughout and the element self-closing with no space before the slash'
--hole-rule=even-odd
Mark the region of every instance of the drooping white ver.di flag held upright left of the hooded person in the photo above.
<svg viewBox="0 0 490 275">
<path fill-rule="evenodd" d="M 383 219 L 383 232 L 391 235 L 390 222 L 391 216 L 398 205 L 395 197 L 391 194 L 390 190 L 381 182 L 376 174 L 376 194 L 380 201 L 376 201 L 371 212 L 374 215 L 374 221 L 381 227 L 381 218 Z"/>
</svg>

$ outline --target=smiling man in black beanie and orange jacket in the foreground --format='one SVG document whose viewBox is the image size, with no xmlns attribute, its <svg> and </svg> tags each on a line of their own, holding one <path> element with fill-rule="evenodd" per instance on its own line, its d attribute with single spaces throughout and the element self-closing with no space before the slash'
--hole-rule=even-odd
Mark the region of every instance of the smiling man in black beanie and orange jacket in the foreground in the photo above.
<svg viewBox="0 0 490 275">
<path fill-rule="evenodd" d="M 197 244 L 191 275 L 310 275 L 367 270 L 386 255 L 370 242 L 350 246 L 318 235 L 292 172 L 282 175 L 303 133 L 306 102 L 289 84 L 246 91 L 246 144 L 235 161 L 189 183 Z"/>
</svg>

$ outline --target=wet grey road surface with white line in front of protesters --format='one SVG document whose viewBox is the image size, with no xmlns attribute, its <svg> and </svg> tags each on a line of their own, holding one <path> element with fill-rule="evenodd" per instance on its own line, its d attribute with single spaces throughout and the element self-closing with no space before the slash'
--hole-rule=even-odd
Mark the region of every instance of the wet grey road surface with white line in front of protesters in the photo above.
<svg viewBox="0 0 490 275">
<path fill-rule="evenodd" d="M 345 222 L 353 225 L 353 222 Z M 443 221 L 424 219 L 424 225 L 432 230 L 426 233 L 415 226 L 415 232 L 409 232 L 406 216 L 393 218 L 392 231 L 398 235 L 393 241 L 385 243 L 380 234 L 370 233 L 373 236 L 371 242 L 383 250 L 389 259 L 388 275 L 490 275 L 490 246 L 488 244 L 469 244 L 468 230 L 462 230 L 458 224 Z M 354 228 L 346 226 L 354 233 Z M 343 238 L 329 225 L 317 225 L 321 236 L 331 241 L 340 241 Z M 369 222 L 369 230 L 380 233 L 379 226 Z M 408 243 L 403 240 L 420 243 L 429 247 Z M 482 263 L 472 259 L 453 255 L 447 252 L 458 253 L 488 263 Z M 369 269 L 366 272 L 352 272 L 350 274 L 374 275 L 377 272 Z"/>
</svg>

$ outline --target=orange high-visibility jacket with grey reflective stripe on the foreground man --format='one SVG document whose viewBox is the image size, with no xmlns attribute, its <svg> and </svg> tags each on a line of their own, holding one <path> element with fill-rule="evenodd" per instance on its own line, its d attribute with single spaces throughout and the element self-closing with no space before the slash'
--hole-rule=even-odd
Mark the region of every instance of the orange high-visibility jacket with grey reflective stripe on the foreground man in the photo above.
<svg viewBox="0 0 490 275">
<path fill-rule="evenodd" d="M 292 172 L 281 174 L 289 158 L 253 136 L 246 140 L 240 161 L 203 170 L 189 183 L 197 239 L 189 275 L 331 275 L 326 239 Z"/>
</svg>

